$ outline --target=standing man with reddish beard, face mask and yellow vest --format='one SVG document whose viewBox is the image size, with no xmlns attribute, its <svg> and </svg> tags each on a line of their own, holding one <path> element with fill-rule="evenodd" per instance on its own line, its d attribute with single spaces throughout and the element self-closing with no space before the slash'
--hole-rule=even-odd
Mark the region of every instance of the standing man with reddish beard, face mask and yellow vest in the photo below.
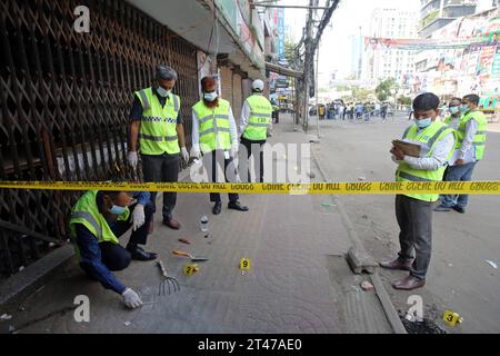
<svg viewBox="0 0 500 356">
<path fill-rule="evenodd" d="M 219 98 L 217 81 L 212 77 L 201 79 L 203 98 L 192 107 L 192 151 L 193 157 L 203 155 L 203 165 L 212 182 L 219 182 L 219 167 L 223 167 L 223 181 L 236 182 L 238 172 L 234 158 L 239 151 L 238 131 L 229 101 Z M 269 116 L 270 118 L 271 116 Z M 222 210 L 220 194 L 210 194 L 213 215 Z M 241 205 L 238 194 L 229 194 L 229 209 L 248 211 Z"/>
</svg>

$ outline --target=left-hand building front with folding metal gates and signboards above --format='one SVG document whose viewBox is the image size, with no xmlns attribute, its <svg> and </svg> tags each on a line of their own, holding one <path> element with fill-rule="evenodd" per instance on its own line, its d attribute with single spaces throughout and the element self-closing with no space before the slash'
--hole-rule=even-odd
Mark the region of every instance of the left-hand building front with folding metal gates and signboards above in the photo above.
<svg viewBox="0 0 500 356">
<path fill-rule="evenodd" d="M 157 65 L 179 73 L 188 146 L 201 77 L 220 77 L 237 120 L 246 82 L 266 78 L 264 14 L 248 0 L 7 0 L 0 12 L 1 180 L 137 179 L 128 116 Z M 0 191 L 0 278 L 68 241 L 79 195 Z"/>
</svg>

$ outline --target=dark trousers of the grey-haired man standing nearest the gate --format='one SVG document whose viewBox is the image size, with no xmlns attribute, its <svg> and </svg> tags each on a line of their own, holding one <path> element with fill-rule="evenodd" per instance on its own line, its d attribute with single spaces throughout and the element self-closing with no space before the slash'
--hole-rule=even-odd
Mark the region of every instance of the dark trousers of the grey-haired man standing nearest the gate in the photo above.
<svg viewBox="0 0 500 356">
<path fill-rule="evenodd" d="M 179 155 L 142 155 L 142 174 L 144 182 L 177 182 L 179 180 Z M 156 211 L 157 192 L 151 192 L 151 201 Z M 176 204 L 177 192 L 163 192 L 162 214 L 164 220 L 172 219 Z"/>
</svg>

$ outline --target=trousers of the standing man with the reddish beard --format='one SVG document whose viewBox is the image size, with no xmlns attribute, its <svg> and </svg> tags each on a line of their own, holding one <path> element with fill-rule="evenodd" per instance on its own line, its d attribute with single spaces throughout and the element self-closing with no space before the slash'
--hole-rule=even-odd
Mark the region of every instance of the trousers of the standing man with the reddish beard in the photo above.
<svg viewBox="0 0 500 356">
<path fill-rule="evenodd" d="M 219 182 L 218 171 L 219 167 L 223 167 L 223 175 L 226 182 L 236 182 L 237 169 L 234 167 L 234 160 L 232 157 L 226 158 L 223 150 L 214 150 L 211 154 L 203 156 L 203 166 L 208 171 L 208 176 L 210 177 L 212 182 Z M 229 201 L 236 202 L 239 200 L 239 195 L 229 192 Z M 210 194 L 211 202 L 221 202 L 219 192 Z"/>
</svg>

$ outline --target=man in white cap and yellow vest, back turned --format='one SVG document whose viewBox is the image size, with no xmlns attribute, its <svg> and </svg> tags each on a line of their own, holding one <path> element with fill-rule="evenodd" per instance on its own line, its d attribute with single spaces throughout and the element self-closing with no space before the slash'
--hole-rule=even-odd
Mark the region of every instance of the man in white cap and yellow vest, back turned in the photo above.
<svg viewBox="0 0 500 356">
<path fill-rule="evenodd" d="M 246 156 L 240 160 L 242 171 L 248 171 L 251 181 L 249 160 L 254 158 L 256 179 L 263 182 L 263 146 L 272 129 L 272 105 L 263 97 L 264 83 L 258 79 L 252 83 L 253 93 L 244 101 L 241 110 L 242 132 L 241 145 L 246 148 Z M 242 155 L 243 156 L 243 155 Z"/>
</svg>

